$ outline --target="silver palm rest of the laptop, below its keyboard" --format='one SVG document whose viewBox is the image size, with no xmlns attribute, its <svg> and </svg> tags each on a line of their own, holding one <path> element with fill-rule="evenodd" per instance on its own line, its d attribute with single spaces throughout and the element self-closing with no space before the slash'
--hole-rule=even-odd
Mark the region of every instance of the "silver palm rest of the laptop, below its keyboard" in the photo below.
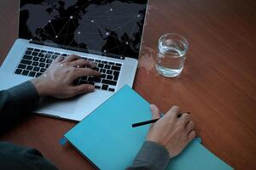
<svg viewBox="0 0 256 170">
<path fill-rule="evenodd" d="M 15 74 L 0 71 L 0 90 L 12 88 L 20 82 L 26 82 L 31 77 L 20 77 Z M 113 93 L 96 90 L 90 94 L 80 95 L 73 99 L 53 99 L 45 98 L 44 101 L 38 102 L 38 107 L 34 111 L 39 114 L 55 116 L 58 118 L 81 121 L 84 116 L 94 111 L 97 106 L 101 105 Z M 96 98 L 96 96 L 101 96 Z"/>
</svg>

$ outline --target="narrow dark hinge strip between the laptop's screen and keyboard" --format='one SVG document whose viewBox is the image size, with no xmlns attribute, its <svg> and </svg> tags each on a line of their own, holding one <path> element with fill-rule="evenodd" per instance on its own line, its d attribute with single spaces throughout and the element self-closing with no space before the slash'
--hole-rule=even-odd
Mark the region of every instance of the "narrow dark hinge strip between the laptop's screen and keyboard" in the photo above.
<svg viewBox="0 0 256 170">
<path fill-rule="evenodd" d="M 65 45 L 60 45 L 60 44 L 56 44 L 56 43 L 52 43 L 52 42 L 41 42 L 41 41 L 37 41 L 37 40 L 30 40 L 29 43 L 34 43 L 34 44 L 38 44 L 38 45 L 45 45 L 45 46 L 49 46 L 49 47 L 53 47 L 53 48 L 69 49 L 69 50 L 73 50 L 73 51 L 79 51 L 79 52 L 82 52 L 82 53 L 89 53 L 88 50 L 83 49 L 83 48 L 67 47 Z M 95 53 L 90 52 L 90 54 L 102 55 L 101 53 L 97 53 L 97 52 L 95 52 Z M 114 58 L 114 59 L 125 59 L 124 56 L 119 56 L 119 55 L 115 55 L 115 54 L 108 54 L 106 56 Z"/>
</svg>

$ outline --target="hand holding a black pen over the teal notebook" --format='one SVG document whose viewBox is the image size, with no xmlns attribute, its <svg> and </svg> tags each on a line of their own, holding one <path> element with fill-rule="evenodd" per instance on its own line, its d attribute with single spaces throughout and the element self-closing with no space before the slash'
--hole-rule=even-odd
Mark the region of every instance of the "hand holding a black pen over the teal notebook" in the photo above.
<svg viewBox="0 0 256 170">
<path fill-rule="evenodd" d="M 153 119 L 160 118 L 157 106 L 150 105 Z M 172 106 L 165 116 L 154 123 L 149 129 L 147 140 L 166 147 L 169 156 L 177 156 L 189 142 L 195 138 L 195 124 L 188 113 L 180 114 L 178 106 Z"/>
</svg>

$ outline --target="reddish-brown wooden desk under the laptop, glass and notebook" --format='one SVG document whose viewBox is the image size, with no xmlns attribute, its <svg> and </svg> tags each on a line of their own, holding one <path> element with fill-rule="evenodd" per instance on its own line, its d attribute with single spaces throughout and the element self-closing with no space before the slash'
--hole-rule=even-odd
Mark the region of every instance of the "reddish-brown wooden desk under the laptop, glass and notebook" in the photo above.
<svg viewBox="0 0 256 170">
<path fill-rule="evenodd" d="M 149 5 L 135 90 L 161 111 L 172 105 L 191 111 L 209 150 L 236 169 L 255 169 L 255 1 L 150 0 Z M 18 1 L 1 0 L 1 61 L 17 37 L 17 17 Z M 154 69 L 157 42 L 166 32 L 189 41 L 183 73 L 173 79 Z M 72 146 L 58 144 L 74 125 L 32 116 L 0 139 L 38 148 L 60 169 L 94 169 Z"/>
</svg>

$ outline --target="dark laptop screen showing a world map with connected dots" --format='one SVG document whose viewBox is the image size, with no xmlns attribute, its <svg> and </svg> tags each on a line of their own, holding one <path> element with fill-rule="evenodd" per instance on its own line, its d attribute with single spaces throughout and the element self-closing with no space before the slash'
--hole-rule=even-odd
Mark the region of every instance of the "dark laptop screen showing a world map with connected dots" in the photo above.
<svg viewBox="0 0 256 170">
<path fill-rule="evenodd" d="M 148 0 L 20 0 L 19 37 L 138 58 Z"/>
</svg>

